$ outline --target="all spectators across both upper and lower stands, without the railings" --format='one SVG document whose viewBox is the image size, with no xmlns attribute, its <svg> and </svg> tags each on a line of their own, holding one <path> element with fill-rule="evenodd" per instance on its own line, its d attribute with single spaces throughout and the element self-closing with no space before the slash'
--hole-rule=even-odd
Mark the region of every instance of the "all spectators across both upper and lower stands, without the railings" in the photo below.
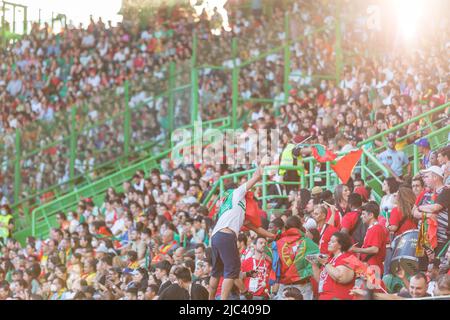
<svg viewBox="0 0 450 320">
<path fill-rule="evenodd" d="M 290 8 L 292 20 L 301 21 L 300 29 L 305 33 L 317 25 L 330 23 L 330 12 L 332 7 L 312 6 L 300 10 L 294 5 Z M 234 34 L 246 39 L 247 47 L 240 50 L 242 61 L 263 52 L 276 39 L 283 40 L 283 11 L 275 9 L 273 15 L 277 19 L 273 19 L 275 24 L 270 21 L 270 31 L 267 31 L 269 22 L 257 14 L 245 16 L 238 11 L 232 16 L 230 21 L 237 21 L 233 24 Z M 58 123 L 58 117 L 67 117 L 67 108 L 77 103 L 88 102 L 92 123 L 108 112 L 120 113 L 120 104 L 104 103 L 96 94 L 111 86 L 120 88 L 125 79 L 152 78 L 149 76 L 152 73 L 158 78 L 164 74 L 162 70 L 167 68 L 168 61 L 174 59 L 181 63 L 188 59 L 192 28 L 191 21 L 177 19 L 171 28 L 157 24 L 148 30 L 128 33 L 123 25 L 106 28 L 100 20 L 92 22 L 87 30 L 68 30 L 67 34 L 54 38 L 48 30 L 35 27 L 29 38 L 17 42 L 9 53 L 3 53 L 0 86 L 3 83 L 7 89 L 0 97 L 6 106 L 2 110 L 0 134 L 12 133 L 15 127 L 32 121 Z M 196 28 L 203 31 L 200 39 L 211 37 L 207 25 Z M 357 32 L 358 28 L 349 24 L 348 30 Z M 345 35 L 344 43 L 352 41 L 351 32 Z M 448 30 L 439 36 L 448 39 Z M 203 50 L 203 54 L 209 55 L 204 61 L 225 61 L 226 65 L 231 57 L 230 39 L 231 34 L 216 39 L 211 50 Z M 358 142 L 448 101 L 448 80 L 442 80 L 448 74 L 448 63 L 436 58 L 443 56 L 439 53 L 444 52 L 445 45 L 433 47 L 430 52 L 421 49 L 409 56 L 402 52 L 401 60 L 394 54 L 362 58 L 344 71 L 340 84 L 316 82 L 314 74 L 333 70 L 333 41 L 333 33 L 325 32 L 293 45 L 290 75 L 293 89 L 288 104 L 280 102 L 284 100 L 280 86 L 282 55 L 268 56 L 266 61 L 241 71 L 248 74 L 239 85 L 243 99 L 279 99 L 273 106 L 245 104 L 252 109 L 244 125 L 244 129 L 280 129 L 283 135 L 278 154 L 288 144 L 310 136 L 314 137 L 311 143 L 324 144 L 329 150 L 349 151 Z M 444 42 L 438 39 L 436 43 Z M 351 44 L 355 51 L 364 45 L 354 40 Z M 72 56 L 75 58 L 70 62 L 68 57 Z M 216 118 L 225 114 L 229 106 L 231 87 L 223 71 L 203 72 L 202 116 Z M 144 101 L 149 92 L 145 85 L 136 89 L 133 103 Z M 157 123 L 163 122 L 160 120 L 167 105 L 157 101 L 149 105 L 154 110 L 147 119 L 152 123 L 150 128 L 145 121 L 139 122 L 140 126 L 134 123 L 135 139 L 154 139 L 163 131 Z M 103 105 L 112 109 L 105 111 Z M 438 126 L 449 124 L 448 115 L 443 115 Z M 120 151 L 118 145 L 122 141 L 120 136 L 113 137 L 114 126 L 114 121 L 105 123 L 99 132 L 80 139 L 79 145 L 87 152 L 86 158 L 78 159 L 77 170 L 89 171 L 87 168 L 93 167 L 97 161 L 93 156 L 96 149 L 109 150 L 110 157 Z M 450 249 L 445 245 L 449 240 L 450 154 L 448 147 L 431 153 L 430 142 L 421 139 L 431 129 L 417 129 L 415 124 L 402 128 L 388 137 L 387 145 L 382 140 L 364 145 L 368 150 L 386 148 L 378 158 L 388 166 L 392 178 L 384 180 L 385 195 L 379 205 L 372 201 L 370 189 L 358 174 L 351 183 L 336 187 L 334 192 L 325 190 L 320 180 L 312 190 L 284 190 L 281 186 L 272 190 L 289 194 L 288 200 L 270 204 L 284 208 L 284 213 L 262 218 L 264 229 L 278 236 L 264 238 L 249 231 L 237 235 L 239 277 L 246 290 L 233 287 L 228 298 L 239 299 L 242 295 L 247 299 L 361 299 L 371 294 L 372 298 L 399 299 L 449 295 Z M 67 134 L 63 127 L 54 132 Z M 412 136 L 408 140 L 397 141 L 409 133 Z M 38 138 L 40 134 L 36 135 Z M 14 140 L 5 141 L 10 141 L 12 146 Z M 401 150 L 411 143 L 416 143 L 423 155 L 421 169 L 425 171 L 417 177 L 411 177 L 411 171 L 404 169 L 409 160 Z M 67 179 L 64 158 L 67 150 L 52 152 L 30 161 L 29 165 L 35 168 L 30 169 L 27 184 L 42 189 L 54 181 L 64 181 L 58 179 Z M 37 167 L 37 163 L 42 165 Z M 174 168 L 168 160 L 161 166 L 162 170 L 153 170 L 147 177 L 144 172 L 136 172 L 132 181 L 124 183 L 122 192 L 111 188 L 102 204 L 84 199 L 76 211 L 59 213 L 58 227 L 52 229 L 50 238 L 30 237 L 24 248 L 9 238 L 14 221 L 0 220 L 3 238 L 8 238 L 1 248 L 0 299 L 208 299 L 212 292 L 210 276 L 217 263 L 211 249 L 216 221 L 201 203 L 220 176 L 246 167 L 206 161 Z M 320 169 L 305 167 L 305 170 Z M 280 176 L 283 174 L 279 172 L 272 178 L 276 180 Z M 2 177 L 0 198 L 2 217 L 5 217 L 9 214 L 11 171 L 3 171 Z M 258 188 L 255 191 L 257 195 L 260 192 Z M 430 217 L 437 216 L 436 243 L 421 259 L 420 270 L 408 274 L 400 268 L 393 274 L 384 270 L 389 264 L 389 243 L 394 236 L 420 228 L 423 217 L 415 210 L 417 207 Z M 283 265 L 281 274 L 277 274 L 272 269 L 276 259 L 273 243 L 287 237 L 305 241 L 312 251 L 328 257 L 308 258 L 303 269 L 296 271 L 296 277 L 288 274 Z M 293 252 L 289 254 L 295 256 Z M 366 275 L 357 274 L 354 267 L 346 267 L 351 260 L 345 259 L 352 256 L 384 270 L 383 282 L 375 293 L 367 291 Z M 221 282 L 210 298 L 220 296 Z"/>
</svg>

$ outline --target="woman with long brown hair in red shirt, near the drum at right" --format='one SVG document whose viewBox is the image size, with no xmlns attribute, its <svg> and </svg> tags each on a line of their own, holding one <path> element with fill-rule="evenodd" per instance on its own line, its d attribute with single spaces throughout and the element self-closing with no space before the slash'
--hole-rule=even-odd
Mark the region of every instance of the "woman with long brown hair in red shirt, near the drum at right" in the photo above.
<svg viewBox="0 0 450 320">
<path fill-rule="evenodd" d="M 395 202 L 396 206 L 392 209 L 389 217 L 388 229 L 396 237 L 408 230 L 417 229 L 417 223 L 412 214 L 416 196 L 410 188 L 400 187 Z"/>
</svg>

